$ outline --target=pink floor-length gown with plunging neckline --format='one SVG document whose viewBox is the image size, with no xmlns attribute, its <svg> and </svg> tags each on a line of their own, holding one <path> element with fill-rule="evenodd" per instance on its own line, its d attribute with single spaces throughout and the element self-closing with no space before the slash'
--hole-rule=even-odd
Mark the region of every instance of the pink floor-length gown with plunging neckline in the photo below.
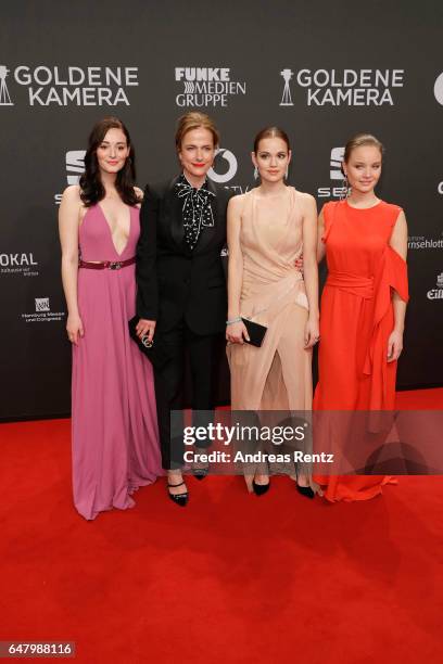
<svg viewBox="0 0 443 664">
<path fill-rule="evenodd" d="M 139 209 L 130 207 L 127 244 L 118 254 L 100 205 L 79 229 L 81 259 L 135 256 Z M 134 506 L 131 494 L 162 474 L 152 367 L 128 334 L 136 312 L 135 265 L 78 270 L 85 335 L 73 346 L 74 503 L 85 519 Z"/>
</svg>

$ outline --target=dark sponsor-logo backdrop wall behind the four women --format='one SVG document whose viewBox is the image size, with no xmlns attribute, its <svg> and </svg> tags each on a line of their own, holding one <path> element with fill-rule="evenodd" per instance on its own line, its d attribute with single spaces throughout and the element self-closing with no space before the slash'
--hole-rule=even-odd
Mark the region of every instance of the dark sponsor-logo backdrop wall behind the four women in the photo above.
<svg viewBox="0 0 443 664">
<path fill-rule="evenodd" d="M 387 148 L 378 193 L 409 227 L 398 387 L 443 383 L 440 0 L 42 0 L 4 3 L 0 33 L 0 418 L 69 412 L 58 209 L 106 115 L 128 126 L 142 187 L 177 173 L 179 115 L 210 113 L 223 137 L 211 177 L 236 193 L 255 186 L 254 135 L 279 125 L 292 141 L 290 183 L 319 208 L 342 194 L 346 140 L 374 132 Z"/>
</svg>

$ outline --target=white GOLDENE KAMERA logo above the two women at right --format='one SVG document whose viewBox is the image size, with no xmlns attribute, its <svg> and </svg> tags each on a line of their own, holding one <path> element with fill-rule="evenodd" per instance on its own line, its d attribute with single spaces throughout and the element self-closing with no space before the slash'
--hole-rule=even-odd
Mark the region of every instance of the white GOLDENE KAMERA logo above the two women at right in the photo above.
<svg viewBox="0 0 443 664">
<path fill-rule="evenodd" d="M 284 80 L 280 106 L 293 106 L 294 73 L 286 68 L 280 76 Z M 393 106 L 394 89 L 403 88 L 404 76 L 404 69 L 300 69 L 295 82 L 306 90 L 308 106 Z M 443 81 L 441 87 L 443 99 Z"/>
</svg>

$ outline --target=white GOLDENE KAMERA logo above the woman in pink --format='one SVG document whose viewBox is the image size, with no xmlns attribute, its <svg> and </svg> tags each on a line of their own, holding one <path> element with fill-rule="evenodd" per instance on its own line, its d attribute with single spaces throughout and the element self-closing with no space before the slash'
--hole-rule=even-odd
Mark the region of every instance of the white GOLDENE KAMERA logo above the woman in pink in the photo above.
<svg viewBox="0 0 443 664">
<path fill-rule="evenodd" d="M 0 105 L 12 106 L 7 76 L 0 65 Z M 28 92 L 30 106 L 129 106 L 127 88 L 138 86 L 138 67 L 20 65 L 13 72 L 18 86 Z"/>
</svg>

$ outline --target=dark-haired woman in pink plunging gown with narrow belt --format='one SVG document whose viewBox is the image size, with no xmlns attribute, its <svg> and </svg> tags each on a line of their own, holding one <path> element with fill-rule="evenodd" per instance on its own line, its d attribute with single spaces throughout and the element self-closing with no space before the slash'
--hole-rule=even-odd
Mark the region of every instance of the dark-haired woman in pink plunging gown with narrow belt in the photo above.
<svg viewBox="0 0 443 664">
<path fill-rule="evenodd" d="M 88 520 L 134 506 L 162 473 L 152 367 L 128 334 L 136 312 L 141 191 L 125 126 L 93 128 L 79 186 L 60 206 L 62 277 L 73 344 L 74 503 Z"/>
</svg>

